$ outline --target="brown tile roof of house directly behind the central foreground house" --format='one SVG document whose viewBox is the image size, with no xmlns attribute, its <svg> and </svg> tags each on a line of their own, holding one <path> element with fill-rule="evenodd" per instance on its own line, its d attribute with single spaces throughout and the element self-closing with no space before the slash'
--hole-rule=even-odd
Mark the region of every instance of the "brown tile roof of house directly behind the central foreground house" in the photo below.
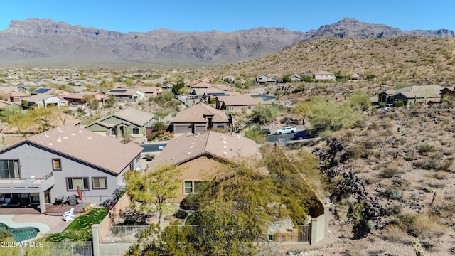
<svg viewBox="0 0 455 256">
<path fill-rule="evenodd" d="M 173 122 L 208 122 L 204 116 L 213 115 L 213 122 L 228 122 L 228 116 L 225 112 L 210 107 L 209 105 L 198 103 L 186 110 L 178 112 L 173 118 Z"/>
</svg>

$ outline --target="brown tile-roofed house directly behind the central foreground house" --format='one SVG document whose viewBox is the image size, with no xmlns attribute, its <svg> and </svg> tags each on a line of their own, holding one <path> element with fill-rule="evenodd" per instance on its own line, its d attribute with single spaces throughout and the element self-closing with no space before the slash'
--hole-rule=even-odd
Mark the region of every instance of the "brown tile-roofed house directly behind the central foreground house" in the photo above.
<svg viewBox="0 0 455 256">
<path fill-rule="evenodd" d="M 176 114 L 173 118 L 173 132 L 199 133 L 209 129 L 227 132 L 229 123 L 230 119 L 225 112 L 204 103 L 198 103 Z"/>
</svg>

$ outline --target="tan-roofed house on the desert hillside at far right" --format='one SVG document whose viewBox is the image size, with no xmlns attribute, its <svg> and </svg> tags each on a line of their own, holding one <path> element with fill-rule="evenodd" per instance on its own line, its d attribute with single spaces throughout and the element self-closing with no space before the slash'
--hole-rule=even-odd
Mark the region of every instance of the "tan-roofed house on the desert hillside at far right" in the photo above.
<svg viewBox="0 0 455 256">
<path fill-rule="evenodd" d="M 415 103 L 431 104 L 441 101 L 439 85 L 410 86 L 397 90 L 386 90 L 378 95 L 378 102 L 393 103 L 402 101 L 405 106 Z"/>
</svg>

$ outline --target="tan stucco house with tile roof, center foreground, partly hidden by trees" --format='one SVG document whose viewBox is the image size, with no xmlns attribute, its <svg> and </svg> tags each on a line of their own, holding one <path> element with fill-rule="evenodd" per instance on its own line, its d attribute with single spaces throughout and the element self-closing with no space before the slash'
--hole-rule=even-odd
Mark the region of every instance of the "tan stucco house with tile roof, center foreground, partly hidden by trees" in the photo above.
<svg viewBox="0 0 455 256">
<path fill-rule="evenodd" d="M 181 194 L 178 201 L 181 201 L 188 193 L 193 193 L 200 182 L 209 181 L 210 176 L 215 176 L 219 164 L 235 161 L 240 156 L 262 157 L 257 144 L 240 134 L 213 131 L 186 134 L 168 142 L 146 171 L 153 171 L 160 164 L 185 168 L 178 191 Z"/>
</svg>

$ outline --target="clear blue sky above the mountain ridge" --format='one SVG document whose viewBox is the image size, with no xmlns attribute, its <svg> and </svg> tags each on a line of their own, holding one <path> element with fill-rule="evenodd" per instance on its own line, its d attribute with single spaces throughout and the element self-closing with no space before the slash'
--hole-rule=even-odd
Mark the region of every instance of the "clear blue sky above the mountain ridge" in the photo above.
<svg viewBox="0 0 455 256">
<path fill-rule="evenodd" d="M 0 30 L 11 20 L 48 18 L 110 31 L 236 31 L 283 27 L 306 32 L 356 18 L 400 28 L 455 31 L 455 0 L 3 0 Z"/>
</svg>

